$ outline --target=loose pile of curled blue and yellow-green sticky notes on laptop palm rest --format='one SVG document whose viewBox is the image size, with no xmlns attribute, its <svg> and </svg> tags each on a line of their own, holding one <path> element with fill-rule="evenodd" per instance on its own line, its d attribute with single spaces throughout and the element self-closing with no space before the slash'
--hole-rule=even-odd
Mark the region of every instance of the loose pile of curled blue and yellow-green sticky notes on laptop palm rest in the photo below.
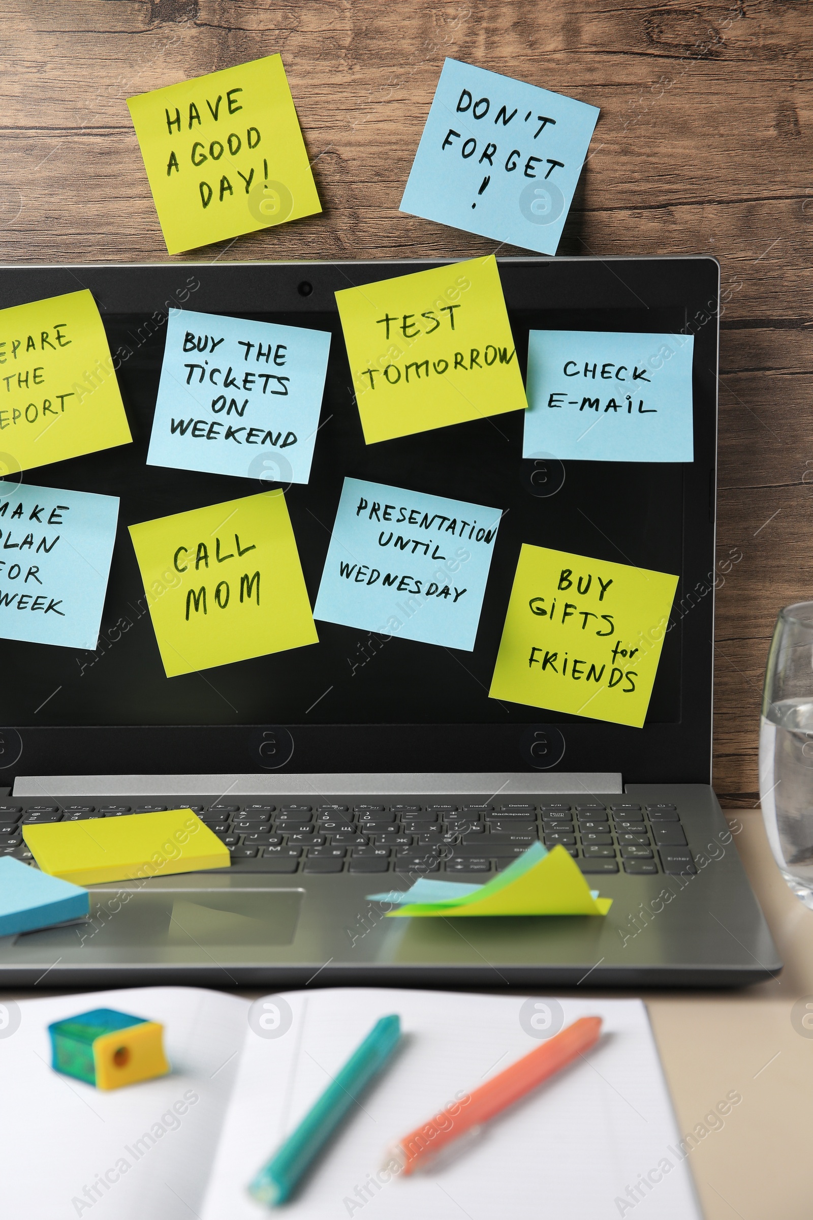
<svg viewBox="0 0 813 1220">
<path fill-rule="evenodd" d="M 390 916 L 606 915 L 612 906 L 612 898 L 598 898 L 597 891 L 589 888 L 561 844 L 549 852 L 541 843 L 534 843 L 484 886 L 421 877 L 403 893 L 368 898 L 399 905 Z"/>
</svg>

